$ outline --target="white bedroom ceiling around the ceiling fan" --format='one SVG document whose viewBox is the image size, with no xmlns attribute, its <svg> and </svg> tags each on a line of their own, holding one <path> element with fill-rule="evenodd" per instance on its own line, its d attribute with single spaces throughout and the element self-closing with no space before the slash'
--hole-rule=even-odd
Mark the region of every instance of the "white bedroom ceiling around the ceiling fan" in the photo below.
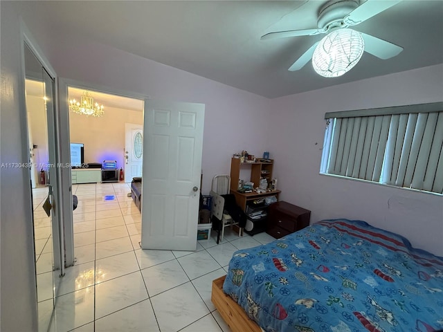
<svg viewBox="0 0 443 332">
<path fill-rule="evenodd" d="M 443 1 L 404 0 L 354 26 L 404 47 L 397 57 L 364 53 L 352 71 L 337 78 L 320 77 L 310 64 L 287 71 L 324 35 L 260 37 L 316 28 L 325 2 L 23 1 L 22 6 L 31 31 L 49 25 L 59 37 L 91 39 L 268 98 L 443 63 Z"/>
</svg>

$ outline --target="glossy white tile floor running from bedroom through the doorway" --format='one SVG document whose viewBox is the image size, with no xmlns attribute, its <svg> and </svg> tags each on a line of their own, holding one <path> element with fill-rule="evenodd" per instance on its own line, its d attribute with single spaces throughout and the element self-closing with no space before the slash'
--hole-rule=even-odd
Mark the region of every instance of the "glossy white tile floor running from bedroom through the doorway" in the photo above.
<svg viewBox="0 0 443 332">
<path fill-rule="evenodd" d="M 211 232 L 195 252 L 141 250 L 141 214 L 127 197 L 128 184 L 73 185 L 73 192 L 79 200 L 73 212 L 77 261 L 57 286 L 50 331 L 230 331 L 210 301 L 211 283 L 226 274 L 233 252 L 273 237 L 226 230 L 223 243 L 217 245 Z M 42 199 L 34 198 L 38 214 Z M 42 214 L 35 225 L 42 234 L 37 271 L 44 275 L 48 221 Z"/>
</svg>

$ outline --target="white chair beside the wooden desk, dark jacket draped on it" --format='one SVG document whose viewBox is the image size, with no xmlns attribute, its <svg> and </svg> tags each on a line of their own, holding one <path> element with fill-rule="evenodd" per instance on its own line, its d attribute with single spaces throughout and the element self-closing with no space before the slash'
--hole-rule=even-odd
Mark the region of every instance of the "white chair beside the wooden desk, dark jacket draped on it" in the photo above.
<svg viewBox="0 0 443 332">
<path fill-rule="evenodd" d="M 224 211 L 224 198 L 221 195 L 229 194 L 230 191 L 230 176 L 226 174 L 218 174 L 213 177 L 213 183 L 210 188 L 210 195 L 213 196 L 213 203 L 211 207 L 212 214 L 221 220 L 221 241 L 224 239 L 224 228 L 237 225 L 232 217 Z M 239 229 L 239 236 L 241 230 Z M 217 242 L 218 243 L 218 242 Z"/>
</svg>

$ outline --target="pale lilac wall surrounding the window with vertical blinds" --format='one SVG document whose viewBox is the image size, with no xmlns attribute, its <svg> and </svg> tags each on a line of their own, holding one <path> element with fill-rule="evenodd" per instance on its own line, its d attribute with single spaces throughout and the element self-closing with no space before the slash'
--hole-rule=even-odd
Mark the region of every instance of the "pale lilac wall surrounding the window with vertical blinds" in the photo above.
<svg viewBox="0 0 443 332">
<path fill-rule="evenodd" d="M 325 112 L 443 100 L 443 65 L 272 100 L 270 151 L 281 199 L 311 222 L 347 218 L 397 232 L 443 256 L 443 197 L 319 174 Z"/>
</svg>

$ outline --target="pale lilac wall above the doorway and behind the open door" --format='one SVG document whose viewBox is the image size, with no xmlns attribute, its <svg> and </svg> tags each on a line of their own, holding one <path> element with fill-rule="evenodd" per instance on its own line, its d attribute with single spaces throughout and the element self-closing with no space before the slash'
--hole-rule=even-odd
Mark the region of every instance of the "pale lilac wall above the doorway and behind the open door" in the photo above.
<svg viewBox="0 0 443 332">
<path fill-rule="evenodd" d="M 42 45 L 49 43 L 47 35 L 37 37 Z M 233 153 L 246 149 L 260 156 L 268 149 L 267 98 L 84 39 L 51 42 L 54 47 L 45 53 L 60 77 L 153 99 L 206 104 L 203 194 L 209 193 L 215 174 L 229 174 Z"/>
</svg>

